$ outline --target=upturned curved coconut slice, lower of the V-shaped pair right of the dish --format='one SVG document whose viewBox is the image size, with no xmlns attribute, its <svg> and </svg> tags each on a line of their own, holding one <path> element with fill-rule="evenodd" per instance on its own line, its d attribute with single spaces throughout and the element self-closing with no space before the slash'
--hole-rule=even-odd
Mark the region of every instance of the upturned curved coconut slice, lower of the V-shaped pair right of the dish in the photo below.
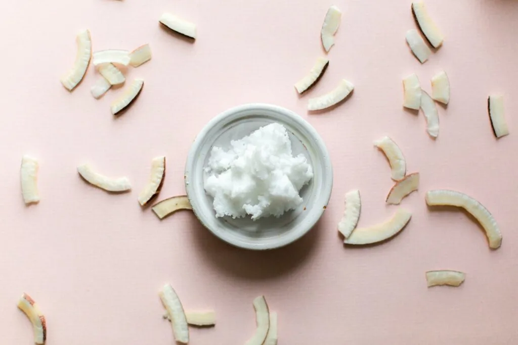
<svg viewBox="0 0 518 345">
<path fill-rule="evenodd" d="M 344 243 L 352 245 L 364 245 L 385 241 L 399 233 L 412 217 L 412 213 L 404 208 L 399 208 L 396 213 L 383 223 L 369 228 L 355 229 Z"/>
</svg>

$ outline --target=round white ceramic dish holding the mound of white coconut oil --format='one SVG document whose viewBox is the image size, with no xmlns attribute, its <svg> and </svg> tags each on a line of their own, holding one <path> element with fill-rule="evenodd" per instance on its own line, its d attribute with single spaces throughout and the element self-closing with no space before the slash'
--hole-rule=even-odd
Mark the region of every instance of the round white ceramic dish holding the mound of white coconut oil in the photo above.
<svg viewBox="0 0 518 345">
<path fill-rule="evenodd" d="M 213 199 L 204 189 L 204 167 L 212 147 L 228 149 L 231 140 L 274 122 L 286 127 L 293 155 L 304 154 L 313 167 L 313 178 L 299 193 L 303 204 L 279 218 L 216 218 Z M 196 217 L 223 241 L 247 249 L 278 248 L 302 237 L 322 216 L 332 187 L 333 169 L 322 138 L 299 115 L 270 104 L 245 104 L 214 117 L 194 140 L 185 164 L 185 190 Z"/>
</svg>

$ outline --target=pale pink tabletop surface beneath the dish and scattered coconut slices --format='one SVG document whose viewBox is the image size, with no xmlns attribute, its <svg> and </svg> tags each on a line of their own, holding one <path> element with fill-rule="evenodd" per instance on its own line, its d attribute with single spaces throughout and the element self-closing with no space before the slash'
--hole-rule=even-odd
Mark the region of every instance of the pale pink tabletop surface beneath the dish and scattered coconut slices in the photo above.
<svg viewBox="0 0 518 345">
<path fill-rule="evenodd" d="M 188 309 L 214 308 L 218 325 L 193 329 L 192 344 L 244 343 L 254 331 L 252 299 L 265 294 L 279 312 L 279 344 L 511 344 L 518 338 L 518 231 L 515 169 L 518 136 L 512 116 L 518 3 L 511 0 L 429 0 L 445 35 L 424 65 L 409 52 L 410 1 L 343 1 L 336 46 L 325 77 L 305 97 L 293 84 L 324 55 L 322 1 L 243 2 L 92 0 L 9 2 L 0 14 L 4 71 L 0 107 L 3 199 L 2 340 L 32 343 L 16 309 L 32 295 L 48 319 L 48 344 L 153 344 L 174 340 L 162 320 L 157 291 L 176 288 Z M 198 24 L 194 44 L 157 23 L 171 11 Z M 146 85 L 130 111 L 110 114 L 110 102 L 90 95 L 90 66 L 68 93 L 59 78 L 73 63 L 75 35 L 92 33 L 94 50 L 132 50 L 150 43 L 151 62 L 127 71 Z M 422 114 L 401 108 L 401 79 L 418 73 L 424 88 L 440 69 L 452 87 L 438 107 L 440 134 L 425 132 Z M 309 97 L 341 78 L 354 95 L 321 115 Z M 126 83 L 128 84 L 128 83 Z M 486 110 L 490 93 L 505 95 L 511 134 L 495 140 Z M 196 133 L 221 111 L 269 102 L 298 112 L 326 141 L 335 185 L 327 211 L 309 235 L 271 252 L 227 246 L 191 213 L 159 221 L 141 211 L 137 194 L 150 161 L 167 156 L 161 198 L 184 192 L 183 165 Z M 362 193 L 360 226 L 395 211 L 384 198 L 389 167 L 372 141 L 390 135 L 421 190 L 404 200 L 409 226 L 388 243 L 344 248 L 336 224 L 344 193 Z M 25 207 L 19 187 L 23 154 L 40 159 L 41 202 Z M 90 162 L 127 175 L 134 190 L 110 195 L 85 184 L 76 166 Z M 502 247 L 491 251 L 465 214 L 428 211 L 425 191 L 452 188 L 479 199 L 496 217 Z M 467 273 L 465 284 L 426 288 L 425 271 Z"/>
</svg>

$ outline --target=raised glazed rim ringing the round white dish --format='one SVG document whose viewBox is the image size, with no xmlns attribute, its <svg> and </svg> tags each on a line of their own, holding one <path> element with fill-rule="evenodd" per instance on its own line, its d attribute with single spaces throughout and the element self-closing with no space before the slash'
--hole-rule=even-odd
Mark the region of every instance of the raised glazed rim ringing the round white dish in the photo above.
<svg viewBox="0 0 518 345">
<path fill-rule="evenodd" d="M 269 243 L 268 245 L 265 244 L 265 245 L 258 246 L 258 245 L 250 244 L 248 242 L 236 241 L 235 238 L 233 238 L 232 236 L 226 237 L 226 236 L 223 236 L 220 232 L 214 231 L 213 229 L 211 229 L 211 227 L 204 221 L 205 216 L 200 215 L 198 212 L 198 202 L 196 201 L 195 198 L 191 197 L 191 196 L 195 195 L 194 184 L 190 183 L 191 182 L 191 168 L 194 166 L 194 163 L 195 163 L 195 160 L 197 157 L 196 152 L 198 152 L 198 149 L 200 148 L 200 146 L 203 145 L 204 138 L 207 136 L 208 132 L 215 125 L 223 122 L 225 120 L 225 118 L 231 117 L 231 116 L 235 115 L 236 113 L 240 113 L 243 111 L 250 111 L 250 110 L 263 110 L 263 111 L 266 110 L 266 111 L 278 113 L 282 116 L 290 118 L 292 121 L 297 123 L 299 126 L 304 127 L 305 130 L 308 131 L 309 137 L 311 137 L 311 139 L 313 139 L 312 142 L 314 143 L 314 145 L 316 147 L 319 147 L 319 149 L 325 153 L 323 157 L 320 157 L 323 161 L 324 166 L 327 168 L 327 169 L 325 169 L 325 176 L 323 179 L 323 181 L 325 181 L 324 186 L 323 186 L 323 194 L 322 194 L 324 196 L 324 198 L 322 198 L 320 200 L 324 201 L 325 205 L 328 204 L 328 202 L 331 198 L 332 190 L 333 190 L 333 166 L 331 163 L 331 159 L 329 157 L 329 152 L 327 150 L 327 147 L 326 147 L 322 137 L 316 131 L 316 129 L 313 126 L 311 126 L 311 124 L 309 122 L 307 122 L 303 117 L 301 117 L 297 113 L 295 113 L 289 109 L 286 109 L 286 108 L 283 108 L 280 106 L 276 106 L 275 104 L 269 104 L 269 103 L 247 103 L 247 104 L 241 104 L 240 106 L 236 106 L 233 108 L 229 108 L 229 109 L 221 112 L 219 115 L 213 117 L 202 128 L 202 130 L 197 134 L 196 138 L 194 139 L 194 142 L 192 143 L 191 148 L 189 149 L 189 153 L 188 153 L 188 156 L 187 156 L 187 159 L 185 162 L 185 171 L 184 171 L 185 191 L 187 193 L 187 197 L 191 203 L 191 206 L 192 206 L 192 209 L 193 209 L 193 212 L 194 212 L 196 218 L 214 236 L 218 237 L 219 239 L 221 239 L 222 241 L 224 241 L 230 245 L 233 245 L 233 246 L 239 247 L 239 248 L 251 249 L 251 250 L 275 249 L 275 248 L 280 248 L 280 247 L 289 245 L 289 244 L 297 241 L 297 239 L 306 235 L 312 228 L 314 228 L 315 224 L 320 220 L 320 218 L 322 217 L 322 215 L 325 211 L 325 207 L 319 207 L 321 211 L 318 213 L 315 212 L 315 214 L 309 220 L 307 220 L 305 222 L 306 225 L 305 225 L 303 231 L 293 232 L 291 234 L 291 236 L 283 236 L 283 237 L 280 237 L 278 241 Z"/>
</svg>

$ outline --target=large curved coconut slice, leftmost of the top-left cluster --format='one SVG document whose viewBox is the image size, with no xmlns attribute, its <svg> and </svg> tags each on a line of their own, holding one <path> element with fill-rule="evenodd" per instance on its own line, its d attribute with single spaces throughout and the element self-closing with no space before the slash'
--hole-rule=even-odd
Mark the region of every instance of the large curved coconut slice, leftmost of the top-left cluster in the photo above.
<svg viewBox="0 0 518 345">
<path fill-rule="evenodd" d="M 87 72 L 90 58 L 92 57 L 92 39 L 90 31 L 81 31 L 77 37 L 77 53 L 74 67 L 72 67 L 62 78 L 61 83 L 69 91 L 72 91 L 83 80 Z"/>
</svg>

